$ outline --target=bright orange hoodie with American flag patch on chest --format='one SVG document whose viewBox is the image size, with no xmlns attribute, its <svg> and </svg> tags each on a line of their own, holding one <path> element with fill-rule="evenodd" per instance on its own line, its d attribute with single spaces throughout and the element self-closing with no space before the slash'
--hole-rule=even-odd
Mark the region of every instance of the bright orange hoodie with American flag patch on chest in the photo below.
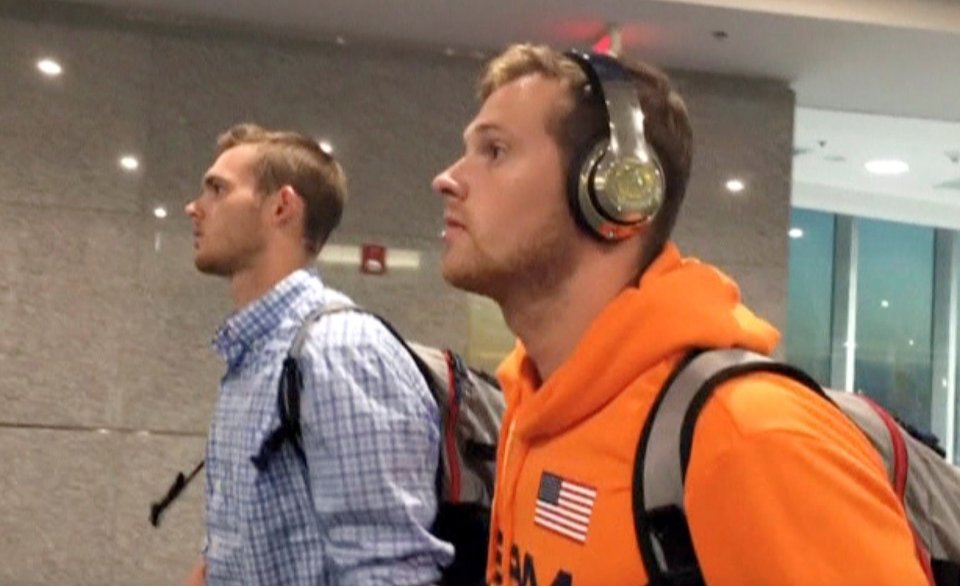
<svg viewBox="0 0 960 586">
<path fill-rule="evenodd" d="M 769 353 L 778 337 L 730 279 L 670 245 L 539 388 L 518 343 L 498 372 L 488 582 L 647 584 L 631 491 L 657 393 L 690 349 Z M 879 456 L 839 410 L 775 375 L 728 382 L 704 409 L 685 508 L 711 586 L 925 584 Z"/>
</svg>

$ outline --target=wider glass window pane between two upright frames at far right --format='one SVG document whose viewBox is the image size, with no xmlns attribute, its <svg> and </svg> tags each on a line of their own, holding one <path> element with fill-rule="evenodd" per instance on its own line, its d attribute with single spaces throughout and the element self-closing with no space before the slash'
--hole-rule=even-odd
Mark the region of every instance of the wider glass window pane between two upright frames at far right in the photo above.
<svg viewBox="0 0 960 586">
<path fill-rule="evenodd" d="M 934 230 L 857 222 L 854 386 L 929 430 Z"/>
</svg>

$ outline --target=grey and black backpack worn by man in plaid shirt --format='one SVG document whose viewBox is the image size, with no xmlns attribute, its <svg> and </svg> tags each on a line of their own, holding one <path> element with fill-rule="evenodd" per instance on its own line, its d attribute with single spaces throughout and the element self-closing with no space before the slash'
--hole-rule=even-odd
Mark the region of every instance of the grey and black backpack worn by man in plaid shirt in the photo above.
<svg viewBox="0 0 960 586">
<path fill-rule="evenodd" d="M 496 380 L 467 367 L 450 350 L 408 343 L 382 317 L 351 305 L 332 304 L 311 312 L 304 319 L 283 361 L 277 394 L 280 427 L 253 457 L 258 468 L 290 442 L 306 466 L 300 429 L 300 393 L 303 376 L 300 355 L 310 328 L 326 315 L 357 311 L 375 317 L 400 344 L 423 375 L 441 415 L 440 462 L 437 467 L 437 517 L 431 532 L 453 544 L 453 563 L 444 569 L 442 584 L 473 586 L 485 583 L 487 547 L 490 534 L 490 507 L 496 472 L 497 437 L 503 417 L 503 393 Z M 159 524 L 160 515 L 203 467 L 189 476 L 179 474 L 167 496 L 151 507 L 150 520 Z"/>
</svg>

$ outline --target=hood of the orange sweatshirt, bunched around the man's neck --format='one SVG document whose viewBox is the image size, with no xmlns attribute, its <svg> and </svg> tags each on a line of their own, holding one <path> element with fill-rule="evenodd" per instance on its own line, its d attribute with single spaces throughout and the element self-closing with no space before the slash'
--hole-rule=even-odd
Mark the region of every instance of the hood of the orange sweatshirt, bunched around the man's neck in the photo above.
<svg viewBox="0 0 960 586">
<path fill-rule="evenodd" d="M 697 347 L 769 354 L 779 337 L 740 303 L 740 290 L 729 277 L 682 258 L 668 244 L 639 287 L 607 305 L 539 388 L 536 369 L 517 343 L 497 373 L 507 393 L 504 425 L 515 423 L 515 439 L 535 442 L 589 417 L 665 358 Z"/>
</svg>

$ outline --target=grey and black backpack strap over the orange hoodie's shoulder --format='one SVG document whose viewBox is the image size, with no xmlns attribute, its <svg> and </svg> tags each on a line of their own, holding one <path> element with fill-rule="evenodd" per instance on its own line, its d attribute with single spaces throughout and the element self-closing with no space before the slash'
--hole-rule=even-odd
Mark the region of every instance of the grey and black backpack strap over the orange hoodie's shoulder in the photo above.
<svg viewBox="0 0 960 586">
<path fill-rule="evenodd" d="M 634 529 L 651 586 L 704 583 L 683 507 L 693 434 L 714 390 L 750 372 L 781 374 L 825 397 L 802 370 L 755 352 L 711 350 L 681 361 L 644 423 L 633 467 Z"/>
</svg>

